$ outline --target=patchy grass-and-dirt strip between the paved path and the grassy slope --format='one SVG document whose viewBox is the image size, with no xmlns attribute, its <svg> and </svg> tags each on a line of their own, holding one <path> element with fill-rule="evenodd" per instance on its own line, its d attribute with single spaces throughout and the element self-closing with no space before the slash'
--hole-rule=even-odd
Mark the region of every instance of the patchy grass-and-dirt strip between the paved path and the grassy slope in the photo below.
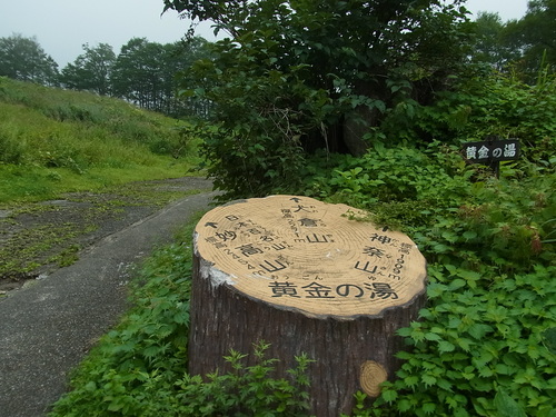
<svg viewBox="0 0 556 417">
<path fill-rule="evenodd" d="M 73 264 L 95 242 L 163 206 L 210 189 L 209 180 L 185 177 L 0 206 L 0 297 Z"/>
</svg>

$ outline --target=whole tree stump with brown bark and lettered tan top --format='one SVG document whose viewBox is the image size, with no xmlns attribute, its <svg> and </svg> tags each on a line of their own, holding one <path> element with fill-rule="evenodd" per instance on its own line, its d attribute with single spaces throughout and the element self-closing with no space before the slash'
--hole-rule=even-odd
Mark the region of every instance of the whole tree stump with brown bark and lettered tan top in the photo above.
<svg viewBox="0 0 556 417">
<path fill-rule="evenodd" d="M 195 231 L 189 371 L 227 370 L 230 349 L 270 344 L 278 371 L 306 353 L 311 413 L 350 413 L 393 378 L 396 330 L 425 301 L 426 261 L 404 234 L 349 218 L 358 210 L 271 196 L 212 209 Z"/>
</svg>

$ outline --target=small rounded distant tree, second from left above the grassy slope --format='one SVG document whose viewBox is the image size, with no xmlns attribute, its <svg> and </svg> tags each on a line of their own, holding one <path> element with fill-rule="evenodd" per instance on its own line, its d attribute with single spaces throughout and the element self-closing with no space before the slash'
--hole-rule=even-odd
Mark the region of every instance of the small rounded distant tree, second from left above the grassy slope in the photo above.
<svg viewBox="0 0 556 417">
<path fill-rule="evenodd" d="M 99 95 L 110 95 L 110 76 L 116 54 L 108 43 L 97 47 L 83 44 L 85 53 L 77 57 L 73 63 L 68 63 L 61 72 L 63 87 L 75 90 L 89 90 Z"/>
</svg>

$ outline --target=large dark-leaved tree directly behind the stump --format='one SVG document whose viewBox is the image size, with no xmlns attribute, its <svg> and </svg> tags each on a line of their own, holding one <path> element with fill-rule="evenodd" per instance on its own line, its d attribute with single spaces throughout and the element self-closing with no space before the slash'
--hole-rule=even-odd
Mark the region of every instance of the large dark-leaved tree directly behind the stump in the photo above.
<svg viewBox="0 0 556 417">
<path fill-rule="evenodd" d="M 404 122 L 460 70 L 460 3 L 165 0 L 229 34 L 182 82 L 215 103 L 222 135 L 206 151 L 217 186 L 266 193 L 295 183 L 306 151 L 365 152 L 387 119 Z"/>
</svg>

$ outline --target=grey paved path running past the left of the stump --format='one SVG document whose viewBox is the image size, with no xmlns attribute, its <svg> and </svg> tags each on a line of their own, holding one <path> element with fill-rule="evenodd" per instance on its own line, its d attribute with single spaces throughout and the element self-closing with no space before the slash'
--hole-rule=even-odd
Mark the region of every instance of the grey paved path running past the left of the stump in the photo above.
<svg viewBox="0 0 556 417">
<path fill-rule="evenodd" d="M 170 241 L 215 192 L 190 196 L 108 236 L 78 262 L 0 299 L 0 417 L 41 417 L 68 374 L 126 311 L 129 268 Z"/>
</svg>

